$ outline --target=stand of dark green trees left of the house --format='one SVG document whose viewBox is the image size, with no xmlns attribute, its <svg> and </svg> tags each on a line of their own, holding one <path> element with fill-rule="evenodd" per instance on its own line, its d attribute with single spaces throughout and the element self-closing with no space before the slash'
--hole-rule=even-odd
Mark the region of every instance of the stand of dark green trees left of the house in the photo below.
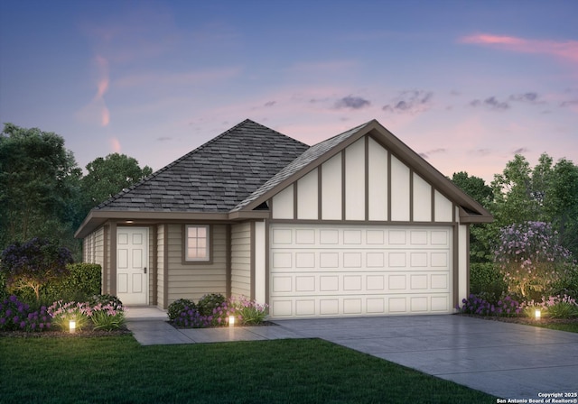
<svg viewBox="0 0 578 404">
<path fill-rule="evenodd" d="M 79 261 L 74 232 L 89 210 L 153 172 L 118 153 L 89 162 L 86 170 L 83 175 L 60 135 L 5 124 L 0 133 L 0 251 L 42 237 L 68 247 Z"/>
</svg>

